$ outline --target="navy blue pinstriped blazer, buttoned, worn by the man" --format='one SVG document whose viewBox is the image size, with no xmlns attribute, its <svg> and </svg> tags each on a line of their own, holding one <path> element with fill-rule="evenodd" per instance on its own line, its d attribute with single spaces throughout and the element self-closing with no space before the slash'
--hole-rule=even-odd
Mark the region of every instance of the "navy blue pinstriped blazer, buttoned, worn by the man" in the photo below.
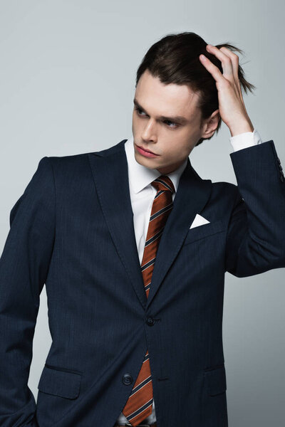
<svg viewBox="0 0 285 427">
<path fill-rule="evenodd" d="M 1 427 L 113 427 L 148 349 L 157 427 L 226 427 L 224 275 L 285 267 L 285 181 L 274 142 L 232 152 L 237 185 L 190 159 L 145 295 L 126 139 L 43 157 L 11 209 L 0 259 Z M 209 223 L 190 228 L 196 214 Z M 52 344 L 27 386 L 39 295 Z"/>
</svg>

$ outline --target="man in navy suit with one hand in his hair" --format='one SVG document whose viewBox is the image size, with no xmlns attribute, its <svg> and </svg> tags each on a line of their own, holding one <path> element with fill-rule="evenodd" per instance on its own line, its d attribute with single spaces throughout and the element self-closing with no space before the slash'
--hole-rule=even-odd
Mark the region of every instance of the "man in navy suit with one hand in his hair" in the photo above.
<svg viewBox="0 0 285 427">
<path fill-rule="evenodd" d="M 133 138 L 43 157 L 11 210 L 0 260 L 1 426 L 228 425 L 224 273 L 285 267 L 285 183 L 274 142 L 261 143 L 247 115 L 238 56 L 201 46 L 219 102 L 207 118 L 201 92 L 163 83 L 149 64 Z M 237 186 L 201 179 L 188 157 L 219 120 Z M 53 342 L 35 403 L 27 381 L 44 283 Z"/>
</svg>

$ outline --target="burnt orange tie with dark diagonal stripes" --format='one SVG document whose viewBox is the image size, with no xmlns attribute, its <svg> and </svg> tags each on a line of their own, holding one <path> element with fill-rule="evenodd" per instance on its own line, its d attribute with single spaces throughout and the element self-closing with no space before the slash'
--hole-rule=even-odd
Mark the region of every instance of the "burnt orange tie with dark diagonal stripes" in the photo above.
<svg viewBox="0 0 285 427">
<path fill-rule="evenodd" d="M 155 265 L 157 248 L 168 215 L 173 206 L 172 193 L 175 191 L 175 186 L 167 175 L 160 175 L 157 179 L 152 181 L 151 185 L 157 189 L 157 193 L 152 202 L 150 222 L 148 224 L 145 249 L 140 267 L 147 297 L 150 292 L 150 283 Z M 147 350 L 138 378 L 123 408 L 123 414 L 133 427 L 138 426 L 141 421 L 147 418 L 147 416 L 150 416 L 152 413 L 152 400 L 152 376 L 150 373 L 150 356 Z"/>
</svg>

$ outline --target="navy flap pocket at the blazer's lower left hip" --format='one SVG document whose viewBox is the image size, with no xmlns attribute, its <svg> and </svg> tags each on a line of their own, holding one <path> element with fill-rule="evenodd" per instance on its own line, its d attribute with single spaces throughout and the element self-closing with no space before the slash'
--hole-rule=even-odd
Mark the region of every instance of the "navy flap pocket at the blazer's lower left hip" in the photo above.
<svg viewBox="0 0 285 427">
<path fill-rule="evenodd" d="M 43 367 L 38 390 L 54 396 L 65 397 L 66 399 L 76 399 L 81 387 L 81 373 L 67 370 Z"/>
</svg>

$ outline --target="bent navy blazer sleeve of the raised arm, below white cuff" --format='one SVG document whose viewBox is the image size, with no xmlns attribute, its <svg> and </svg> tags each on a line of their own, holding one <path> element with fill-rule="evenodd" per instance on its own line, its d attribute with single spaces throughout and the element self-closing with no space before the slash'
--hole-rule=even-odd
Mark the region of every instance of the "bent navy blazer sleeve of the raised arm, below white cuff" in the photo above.
<svg viewBox="0 0 285 427">
<path fill-rule="evenodd" d="M 230 154 L 237 178 L 226 271 L 239 278 L 285 267 L 285 180 L 272 140 Z"/>
</svg>

